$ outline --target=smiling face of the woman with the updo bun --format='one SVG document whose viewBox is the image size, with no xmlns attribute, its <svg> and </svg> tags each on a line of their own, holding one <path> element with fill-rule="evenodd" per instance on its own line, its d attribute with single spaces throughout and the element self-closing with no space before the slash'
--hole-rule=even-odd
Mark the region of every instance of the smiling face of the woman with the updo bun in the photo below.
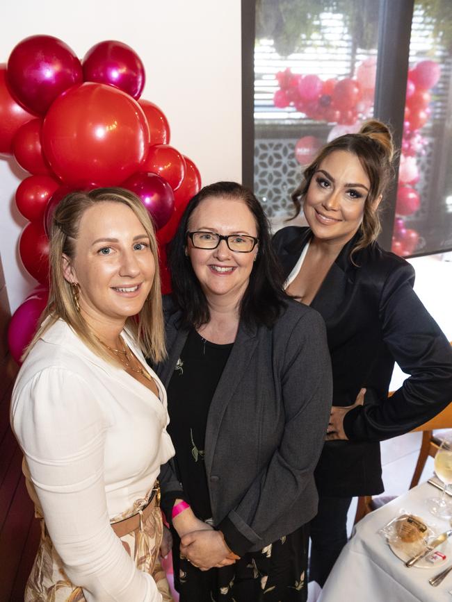
<svg viewBox="0 0 452 602">
<path fill-rule="evenodd" d="M 344 246 L 360 227 L 370 186 L 356 155 L 328 155 L 312 176 L 303 206 L 314 237 Z"/>
</svg>

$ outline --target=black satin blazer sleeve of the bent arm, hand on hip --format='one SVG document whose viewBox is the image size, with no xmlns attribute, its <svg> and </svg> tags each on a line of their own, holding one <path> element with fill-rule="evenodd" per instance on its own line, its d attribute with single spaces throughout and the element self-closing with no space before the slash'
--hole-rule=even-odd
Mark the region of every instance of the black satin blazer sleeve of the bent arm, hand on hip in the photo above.
<svg viewBox="0 0 452 602">
<path fill-rule="evenodd" d="M 366 392 L 365 405 L 350 410 L 344 430 L 350 440 L 378 441 L 402 435 L 433 418 L 452 399 L 449 342 L 412 290 L 414 270 L 403 262 L 389 272 L 379 301 L 382 340 L 410 374 L 393 396 Z"/>
</svg>

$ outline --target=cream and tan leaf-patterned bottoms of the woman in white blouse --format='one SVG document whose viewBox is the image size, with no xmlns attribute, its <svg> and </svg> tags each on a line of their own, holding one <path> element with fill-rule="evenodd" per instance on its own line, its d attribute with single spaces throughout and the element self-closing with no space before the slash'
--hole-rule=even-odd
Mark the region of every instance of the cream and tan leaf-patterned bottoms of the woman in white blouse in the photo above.
<svg viewBox="0 0 452 602">
<path fill-rule="evenodd" d="M 114 521 L 128 518 L 133 512 L 124 512 Z M 36 513 L 41 522 L 41 540 L 38 553 L 26 584 L 24 602 L 86 602 L 83 590 L 71 583 L 65 574 L 60 557 L 45 528 L 44 519 Z M 163 602 L 172 602 L 170 588 L 159 561 L 159 551 L 163 532 L 161 510 L 156 506 L 143 523 L 142 531 L 133 531 L 121 537 L 122 545 L 134 558 L 136 567 L 154 578 Z"/>
</svg>

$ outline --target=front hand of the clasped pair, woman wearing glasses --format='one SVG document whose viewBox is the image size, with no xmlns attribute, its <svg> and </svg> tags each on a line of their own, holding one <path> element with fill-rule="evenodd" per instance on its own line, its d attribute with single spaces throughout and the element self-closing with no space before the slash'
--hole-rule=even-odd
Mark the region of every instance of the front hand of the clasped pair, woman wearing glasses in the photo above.
<svg viewBox="0 0 452 602">
<path fill-rule="evenodd" d="M 202 571 L 223 565 L 223 561 L 229 553 L 230 550 L 218 531 L 193 531 L 181 539 L 181 554 L 186 556 L 193 566 Z"/>
</svg>

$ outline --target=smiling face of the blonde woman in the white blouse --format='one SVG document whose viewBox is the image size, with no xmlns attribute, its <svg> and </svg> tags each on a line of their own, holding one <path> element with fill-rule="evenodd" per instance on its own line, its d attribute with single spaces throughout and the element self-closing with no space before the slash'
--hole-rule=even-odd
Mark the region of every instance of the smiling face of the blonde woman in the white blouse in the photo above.
<svg viewBox="0 0 452 602">
<path fill-rule="evenodd" d="M 129 207 L 102 201 L 88 208 L 74 249 L 72 260 L 63 258 L 63 273 L 79 284 L 81 313 L 95 332 L 141 310 L 155 264 L 145 228 Z"/>
</svg>

